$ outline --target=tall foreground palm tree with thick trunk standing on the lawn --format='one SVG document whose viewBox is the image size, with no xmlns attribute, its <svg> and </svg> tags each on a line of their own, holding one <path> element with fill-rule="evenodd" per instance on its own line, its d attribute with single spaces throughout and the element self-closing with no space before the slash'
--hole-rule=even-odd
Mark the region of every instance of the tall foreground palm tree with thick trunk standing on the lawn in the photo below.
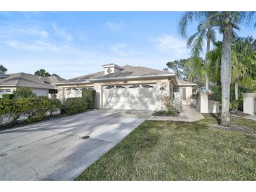
<svg viewBox="0 0 256 192">
<path fill-rule="evenodd" d="M 187 26 L 196 21 L 201 24 L 201 29 L 213 27 L 220 30 L 223 34 L 222 55 L 221 55 L 221 74 L 222 83 L 222 121 L 224 126 L 230 125 L 229 102 L 230 102 L 230 84 L 231 84 L 231 46 L 235 30 L 239 26 L 249 24 L 253 17 L 253 12 L 245 11 L 198 11 L 184 13 L 180 22 L 180 29 L 186 31 Z"/>
</svg>

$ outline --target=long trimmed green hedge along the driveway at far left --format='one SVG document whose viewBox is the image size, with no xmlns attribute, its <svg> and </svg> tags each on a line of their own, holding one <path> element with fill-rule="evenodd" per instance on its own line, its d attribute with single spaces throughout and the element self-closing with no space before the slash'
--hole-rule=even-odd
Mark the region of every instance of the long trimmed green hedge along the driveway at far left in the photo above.
<svg viewBox="0 0 256 192">
<path fill-rule="evenodd" d="M 50 100 L 47 97 L 0 100 L 0 116 L 14 122 L 21 116 L 27 117 L 28 122 L 39 121 L 60 108 L 60 100 Z"/>
</svg>

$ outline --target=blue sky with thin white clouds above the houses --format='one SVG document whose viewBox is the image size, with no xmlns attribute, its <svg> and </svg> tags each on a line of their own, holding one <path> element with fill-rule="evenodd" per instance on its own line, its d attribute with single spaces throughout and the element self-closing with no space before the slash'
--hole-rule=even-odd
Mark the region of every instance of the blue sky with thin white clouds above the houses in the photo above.
<svg viewBox="0 0 256 192">
<path fill-rule="evenodd" d="M 189 57 L 177 33 L 182 12 L 0 12 L 0 64 L 72 78 L 116 63 L 163 69 Z M 195 31 L 191 25 L 188 34 Z M 254 29 L 243 27 L 240 36 Z M 221 39 L 221 36 L 218 35 Z"/>
</svg>

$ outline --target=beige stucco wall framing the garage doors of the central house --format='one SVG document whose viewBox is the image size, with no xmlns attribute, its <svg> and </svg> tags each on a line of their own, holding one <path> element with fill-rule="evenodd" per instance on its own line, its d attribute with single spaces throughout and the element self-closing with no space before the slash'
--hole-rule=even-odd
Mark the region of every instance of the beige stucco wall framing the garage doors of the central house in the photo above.
<svg viewBox="0 0 256 192">
<path fill-rule="evenodd" d="M 73 85 L 58 85 L 58 99 L 62 100 L 65 98 L 65 89 L 66 88 L 84 88 L 84 87 L 92 87 L 96 91 L 96 102 L 95 107 L 96 108 L 102 108 L 103 107 L 103 98 L 102 98 L 102 92 L 103 88 L 106 85 L 134 85 L 134 84 L 156 84 L 156 110 L 161 110 L 161 107 L 163 107 L 163 98 L 165 96 L 168 96 L 168 91 L 170 86 L 173 87 L 173 85 L 170 85 L 168 88 L 168 78 L 163 79 L 147 79 L 147 80 L 131 80 L 131 81 L 109 81 L 109 82 L 99 82 L 99 83 L 93 83 L 93 84 L 73 84 Z M 160 88 L 164 87 L 165 90 L 161 91 Z M 78 95 L 79 96 L 79 95 Z"/>
</svg>

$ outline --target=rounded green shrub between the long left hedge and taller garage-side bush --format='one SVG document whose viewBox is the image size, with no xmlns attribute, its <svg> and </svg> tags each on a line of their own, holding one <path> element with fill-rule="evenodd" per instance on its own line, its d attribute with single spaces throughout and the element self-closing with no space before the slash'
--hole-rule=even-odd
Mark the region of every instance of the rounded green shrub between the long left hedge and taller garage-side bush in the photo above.
<svg viewBox="0 0 256 192">
<path fill-rule="evenodd" d="M 86 101 L 83 97 L 74 97 L 63 101 L 60 112 L 61 114 L 73 115 L 85 112 L 86 109 Z"/>
</svg>

